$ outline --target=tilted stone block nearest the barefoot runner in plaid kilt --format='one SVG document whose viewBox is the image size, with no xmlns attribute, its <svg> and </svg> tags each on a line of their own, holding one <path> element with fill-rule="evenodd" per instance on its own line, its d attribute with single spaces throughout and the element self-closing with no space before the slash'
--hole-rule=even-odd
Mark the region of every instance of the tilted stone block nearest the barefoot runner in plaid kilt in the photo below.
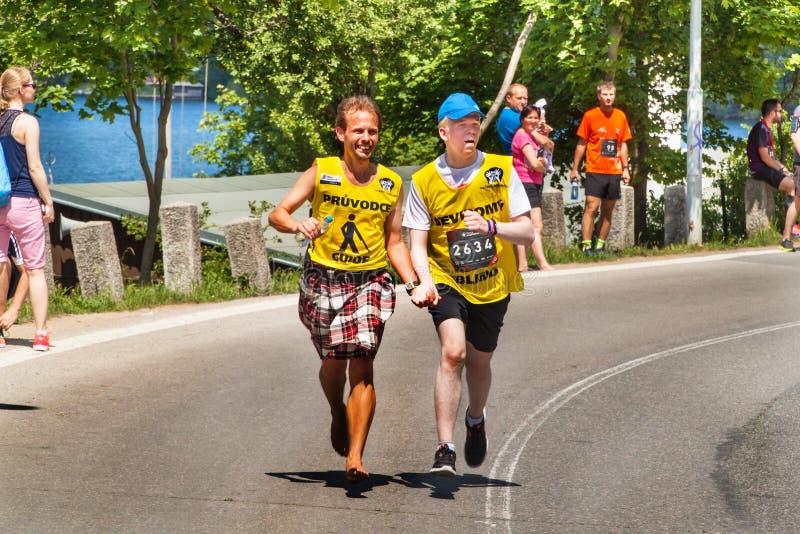
<svg viewBox="0 0 800 534">
<path fill-rule="evenodd" d="M 265 291 L 270 284 L 269 260 L 261 221 L 234 219 L 223 227 L 233 276 L 247 276 L 251 287 Z"/>
</svg>

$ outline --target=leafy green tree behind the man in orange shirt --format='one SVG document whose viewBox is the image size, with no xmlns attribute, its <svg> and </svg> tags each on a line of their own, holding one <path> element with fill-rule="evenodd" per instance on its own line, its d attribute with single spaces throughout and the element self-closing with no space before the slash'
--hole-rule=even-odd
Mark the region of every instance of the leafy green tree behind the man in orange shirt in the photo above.
<svg viewBox="0 0 800 534">
<path fill-rule="evenodd" d="M 797 46 L 791 28 L 800 22 L 798 8 L 775 0 L 721 0 L 703 7 L 705 99 L 756 106 L 774 94 L 785 73 L 769 54 Z M 574 147 L 580 117 L 597 103 L 595 86 L 605 79 L 617 86 L 617 104 L 634 130 L 635 231 L 646 241 L 647 180 L 670 184 L 685 178 L 685 156 L 664 140 L 683 134 L 689 2 L 539 1 L 531 9 L 544 15 L 532 30 L 518 78 L 533 80 L 531 97 L 546 96 L 548 109 L 558 110 L 548 119 L 557 129 L 562 161 L 571 162 L 567 147 Z M 720 121 L 706 113 L 703 122 L 706 147 L 731 146 Z"/>
</svg>

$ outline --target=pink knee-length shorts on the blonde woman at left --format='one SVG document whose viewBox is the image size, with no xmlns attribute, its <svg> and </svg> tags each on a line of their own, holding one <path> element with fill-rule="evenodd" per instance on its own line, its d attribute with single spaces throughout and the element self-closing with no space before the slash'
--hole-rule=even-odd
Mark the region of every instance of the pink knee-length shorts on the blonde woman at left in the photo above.
<svg viewBox="0 0 800 534">
<path fill-rule="evenodd" d="M 11 197 L 8 204 L 0 208 L 0 261 L 8 257 L 9 235 L 14 232 L 25 268 L 43 268 L 44 231 L 42 203 L 39 199 Z"/>
</svg>

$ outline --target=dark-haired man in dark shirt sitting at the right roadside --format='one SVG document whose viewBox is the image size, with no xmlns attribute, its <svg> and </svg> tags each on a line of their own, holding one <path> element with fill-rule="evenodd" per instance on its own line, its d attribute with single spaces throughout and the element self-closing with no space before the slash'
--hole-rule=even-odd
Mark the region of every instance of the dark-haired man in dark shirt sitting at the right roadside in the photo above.
<svg viewBox="0 0 800 534">
<path fill-rule="evenodd" d="M 754 180 L 767 182 L 775 189 L 794 196 L 794 179 L 789 170 L 775 159 L 775 143 L 772 140 L 772 126 L 780 124 L 783 108 L 780 101 L 769 98 L 761 104 L 761 120 L 750 130 L 747 137 L 747 162 L 750 176 Z M 794 252 L 791 232 L 797 219 L 798 199 L 795 197 L 786 208 L 786 222 L 783 225 L 783 239 L 780 249 Z"/>
</svg>

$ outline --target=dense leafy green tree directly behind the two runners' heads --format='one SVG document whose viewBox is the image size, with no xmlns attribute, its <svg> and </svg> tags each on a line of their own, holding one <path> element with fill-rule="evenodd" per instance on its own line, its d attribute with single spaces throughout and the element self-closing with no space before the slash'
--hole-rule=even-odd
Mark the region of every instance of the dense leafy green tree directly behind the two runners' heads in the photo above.
<svg viewBox="0 0 800 534">
<path fill-rule="evenodd" d="M 501 0 L 231 2 L 220 14 L 218 57 L 247 95 L 240 111 L 250 137 L 224 157 L 254 163 L 253 173 L 305 168 L 338 151 L 336 105 L 364 93 L 383 113 L 381 161 L 432 159 L 436 110 L 447 94 L 469 92 L 486 106 L 496 93 L 503 50 L 516 35 L 495 21 L 513 21 L 517 11 Z M 242 124 L 230 113 L 226 120 Z M 209 121 L 220 132 L 227 124 Z"/>
</svg>

